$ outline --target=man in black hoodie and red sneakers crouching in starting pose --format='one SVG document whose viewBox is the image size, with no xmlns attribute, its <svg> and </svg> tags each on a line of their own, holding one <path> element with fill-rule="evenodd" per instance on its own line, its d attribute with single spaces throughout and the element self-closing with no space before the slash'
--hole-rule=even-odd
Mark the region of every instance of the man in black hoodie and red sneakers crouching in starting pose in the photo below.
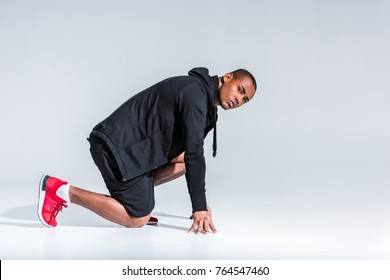
<svg viewBox="0 0 390 280">
<path fill-rule="evenodd" d="M 204 138 L 214 128 L 215 156 L 217 106 L 238 108 L 254 97 L 256 87 L 244 69 L 211 77 L 206 68 L 194 68 L 131 97 L 88 138 L 110 196 L 45 175 L 39 187 L 41 222 L 56 226 L 58 212 L 70 202 L 125 227 L 157 222 L 151 217 L 154 186 L 185 174 L 193 210 L 189 232 L 216 233 L 206 203 Z"/>
</svg>

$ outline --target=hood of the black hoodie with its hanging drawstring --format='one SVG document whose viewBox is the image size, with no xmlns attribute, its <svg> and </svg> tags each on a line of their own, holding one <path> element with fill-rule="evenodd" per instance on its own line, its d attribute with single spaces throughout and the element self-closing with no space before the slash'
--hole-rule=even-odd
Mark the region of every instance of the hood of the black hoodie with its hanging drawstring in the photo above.
<svg viewBox="0 0 390 280">
<path fill-rule="evenodd" d="M 213 157 L 217 154 L 217 119 L 218 119 L 218 110 L 214 106 L 215 98 L 218 94 L 218 76 L 210 76 L 209 70 L 204 67 L 193 68 L 188 72 L 189 76 L 195 76 L 199 78 L 207 90 L 208 95 L 208 117 L 213 120 Z"/>
</svg>

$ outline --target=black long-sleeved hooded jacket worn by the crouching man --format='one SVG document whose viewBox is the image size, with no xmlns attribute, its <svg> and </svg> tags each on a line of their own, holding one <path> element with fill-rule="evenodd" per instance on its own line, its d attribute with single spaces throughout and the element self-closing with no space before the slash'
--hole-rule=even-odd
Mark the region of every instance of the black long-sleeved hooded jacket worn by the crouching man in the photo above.
<svg viewBox="0 0 390 280">
<path fill-rule="evenodd" d="M 194 68 L 188 76 L 168 78 L 134 95 L 96 125 L 91 136 L 107 143 L 124 181 L 185 152 L 192 209 L 207 210 L 203 144 L 216 125 L 217 94 L 218 76 Z M 215 154 L 215 138 L 213 149 Z"/>
</svg>

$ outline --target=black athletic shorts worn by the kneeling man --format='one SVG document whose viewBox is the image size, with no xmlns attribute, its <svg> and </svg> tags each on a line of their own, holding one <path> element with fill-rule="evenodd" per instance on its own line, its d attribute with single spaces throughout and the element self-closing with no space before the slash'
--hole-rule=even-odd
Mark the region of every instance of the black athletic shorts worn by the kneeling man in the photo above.
<svg viewBox="0 0 390 280">
<path fill-rule="evenodd" d="M 107 144 L 99 137 L 88 139 L 91 155 L 102 174 L 110 195 L 122 204 L 131 217 L 144 217 L 154 208 L 153 172 L 149 171 L 127 181 Z"/>
</svg>

